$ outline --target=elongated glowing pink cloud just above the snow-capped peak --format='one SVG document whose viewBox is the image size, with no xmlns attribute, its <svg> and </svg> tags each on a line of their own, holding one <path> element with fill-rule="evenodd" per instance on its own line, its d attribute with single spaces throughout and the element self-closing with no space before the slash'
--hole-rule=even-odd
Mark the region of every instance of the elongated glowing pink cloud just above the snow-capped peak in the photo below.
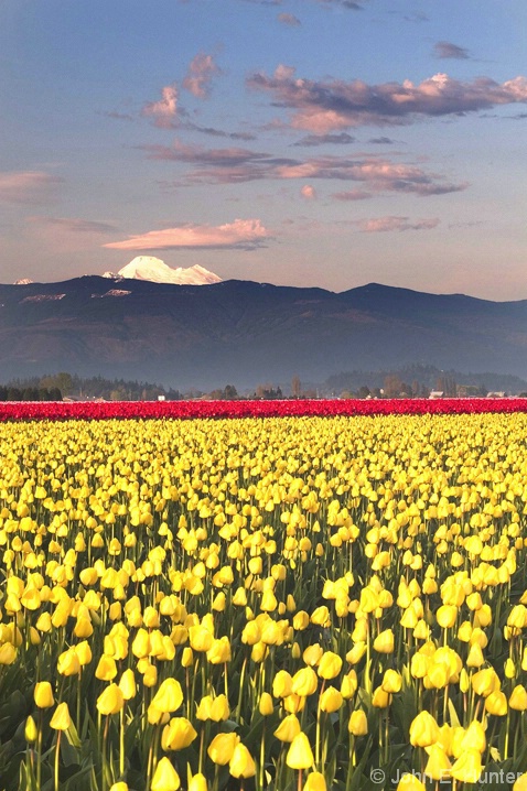
<svg viewBox="0 0 527 791">
<path fill-rule="evenodd" d="M 235 219 L 219 226 L 183 225 L 131 236 L 125 241 L 104 245 L 112 250 L 170 250 L 174 248 L 241 248 L 261 247 L 270 234 L 259 219 Z"/>
</svg>

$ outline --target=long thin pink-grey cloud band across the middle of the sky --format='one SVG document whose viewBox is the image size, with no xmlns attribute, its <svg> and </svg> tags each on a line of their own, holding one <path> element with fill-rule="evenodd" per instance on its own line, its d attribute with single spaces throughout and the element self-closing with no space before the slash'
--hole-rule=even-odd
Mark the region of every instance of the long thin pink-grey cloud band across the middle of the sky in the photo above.
<svg viewBox="0 0 527 791">
<path fill-rule="evenodd" d="M 466 183 L 451 183 L 413 164 L 378 156 L 312 159 L 277 158 L 244 148 L 203 149 L 175 141 L 172 147 L 148 147 L 152 159 L 193 165 L 180 181 L 189 184 L 236 184 L 258 180 L 327 178 L 362 182 L 373 193 L 442 195 L 464 189 Z"/>
</svg>

